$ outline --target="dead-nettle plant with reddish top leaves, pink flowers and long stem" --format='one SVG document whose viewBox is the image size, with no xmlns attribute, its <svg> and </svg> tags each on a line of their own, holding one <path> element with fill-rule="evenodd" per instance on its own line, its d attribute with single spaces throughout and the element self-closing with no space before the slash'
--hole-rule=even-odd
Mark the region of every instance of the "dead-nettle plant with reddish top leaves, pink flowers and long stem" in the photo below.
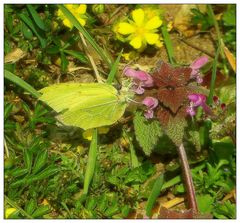
<svg viewBox="0 0 240 223">
<path fill-rule="evenodd" d="M 147 95 L 141 102 L 145 106 L 146 119 L 159 120 L 164 133 L 178 148 L 193 214 L 198 213 L 198 208 L 183 139 L 188 121 L 194 120 L 198 107 L 202 107 L 206 115 L 212 115 L 206 104 L 208 91 L 201 86 L 200 68 L 207 62 L 207 57 L 200 57 L 189 67 L 173 67 L 161 61 L 151 75 L 130 67 L 124 69 L 125 75 L 133 79 L 132 90 L 136 94 Z"/>
</svg>

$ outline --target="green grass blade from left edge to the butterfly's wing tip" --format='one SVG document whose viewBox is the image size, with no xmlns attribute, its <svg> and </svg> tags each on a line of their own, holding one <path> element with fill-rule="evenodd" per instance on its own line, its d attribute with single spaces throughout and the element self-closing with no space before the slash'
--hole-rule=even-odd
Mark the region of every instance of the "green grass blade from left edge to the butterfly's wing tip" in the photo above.
<svg viewBox="0 0 240 223">
<path fill-rule="evenodd" d="M 29 92 L 35 98 L 41 96 L 41 94 L 37 90 L 35 90 L 30 84 L 28 84 L 23 79 L 19 78 L 18 76 L 16 76 L 15 74 L 11 73 L 8 70 L 4 70 L 4 78 L 23 88 L 25 91 Z"/>
</svg>

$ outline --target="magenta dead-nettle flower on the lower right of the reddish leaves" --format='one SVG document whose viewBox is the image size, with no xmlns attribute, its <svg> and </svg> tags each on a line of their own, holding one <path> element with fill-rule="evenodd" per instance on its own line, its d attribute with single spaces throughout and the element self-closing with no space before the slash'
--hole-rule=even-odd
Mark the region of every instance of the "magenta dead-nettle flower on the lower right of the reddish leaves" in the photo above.
<svg viewBox="0 0 240 223">
<path fill-rule="evenodd" d="M 188 95 L 188 99 L 190 100 L 190 106 L 187 107 L 186 112 L 190 116 L 194 116 L 196 114 L 196 109 L 201 106 L 203 110 L 207 114 L 212 114 L 211 109 L 206 104 L 206 96 L 203 94 L 190 94 Z"/>
</svg>

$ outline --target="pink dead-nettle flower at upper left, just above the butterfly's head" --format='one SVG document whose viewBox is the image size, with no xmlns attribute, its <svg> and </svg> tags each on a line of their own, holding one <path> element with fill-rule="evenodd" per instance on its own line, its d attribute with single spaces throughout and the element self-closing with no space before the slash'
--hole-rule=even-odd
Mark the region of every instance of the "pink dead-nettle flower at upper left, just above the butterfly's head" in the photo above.
<svg viewBox="0 0 240 223">
<path fill-rule="evenodd" d="M 143 94 L 144 93 L 144 88 L 143 87 L 152 87 L 153 86 L 153 79 L 151 75 L 149 75 L 145 71 L 141 70 L 134 70 L 130 67 L 126 67 L 123 70 L 123 73 L 127 77 L 133 78 L 133 90 L 135 91 L 136 94 Z"/>
</svg>

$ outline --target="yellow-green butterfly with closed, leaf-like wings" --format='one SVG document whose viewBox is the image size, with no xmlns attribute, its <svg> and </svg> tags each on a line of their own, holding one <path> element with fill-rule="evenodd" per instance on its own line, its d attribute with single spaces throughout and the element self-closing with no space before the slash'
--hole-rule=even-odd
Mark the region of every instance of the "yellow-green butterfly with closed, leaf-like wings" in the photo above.
<svg viewBox="0 0 240 223">
<path fill-rule="evenodd" d="M 131 97 L 103 83 L 62 83 L 40 90 L 41 101 L 59 112 L 59 120 L 84 130 L 112 125 L 123 115 Z"/>
</svg>

